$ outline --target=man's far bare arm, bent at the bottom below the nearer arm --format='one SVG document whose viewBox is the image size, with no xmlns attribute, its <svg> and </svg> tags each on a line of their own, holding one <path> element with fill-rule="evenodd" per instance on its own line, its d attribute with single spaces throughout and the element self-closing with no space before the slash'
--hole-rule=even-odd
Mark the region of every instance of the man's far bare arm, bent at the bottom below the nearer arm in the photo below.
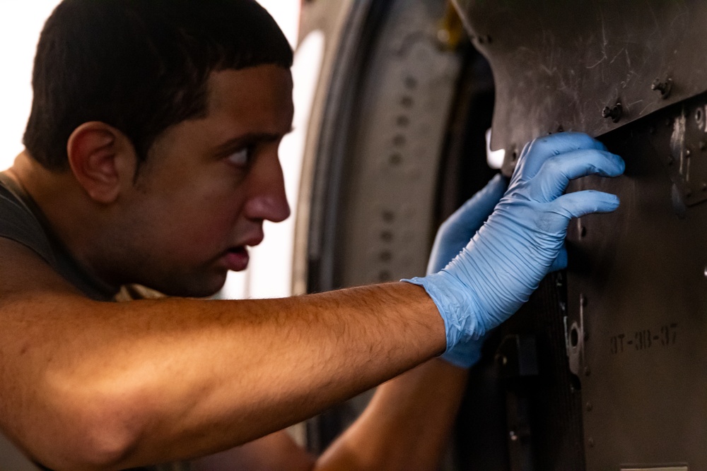
<svg viewBox="0 0 707 471">
<path fill-rule="evenodd" d="M 285 432 L 192 464 L 194 471 L 436 470 L 467 371 L 432 359 L 383 384 L 356 422 L 315 460 Z"/>
</svg>

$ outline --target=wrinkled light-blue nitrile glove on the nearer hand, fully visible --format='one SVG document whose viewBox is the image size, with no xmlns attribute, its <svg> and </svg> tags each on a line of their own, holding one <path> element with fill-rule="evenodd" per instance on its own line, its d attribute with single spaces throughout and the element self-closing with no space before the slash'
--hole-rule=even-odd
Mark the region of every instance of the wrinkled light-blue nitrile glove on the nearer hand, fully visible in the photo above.
<svg viewBox="0 0 707 471">
<path fill-rule="evenodd" d="M 563 194 L 568 182 L 623 172 L 621 157 L 582 133 L 526 145 L 508 191 L 464 250 L 440 272 L 408 280 L 440 311 L 447 351 L 481 338 L 527 301 L 561 253 L 571 218 L 619 207 L 617 196 L 600 191 Z"/>
</svg>

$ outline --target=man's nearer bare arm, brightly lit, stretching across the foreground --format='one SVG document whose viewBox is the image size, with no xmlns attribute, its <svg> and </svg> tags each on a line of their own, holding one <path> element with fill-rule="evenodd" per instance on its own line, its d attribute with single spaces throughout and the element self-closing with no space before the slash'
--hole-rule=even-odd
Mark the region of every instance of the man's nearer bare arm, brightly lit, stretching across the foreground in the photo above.
<svg viewBox="0 0 707 471">
<path fill-rule="evenodd" d="M 57 470 L 245 443 L 444 350 L 416 286 L 264 301 L 99 303 L 0 240 L 1 426 Z M 21 267 L 21 268 L 18 268 Z"/>
</svg>

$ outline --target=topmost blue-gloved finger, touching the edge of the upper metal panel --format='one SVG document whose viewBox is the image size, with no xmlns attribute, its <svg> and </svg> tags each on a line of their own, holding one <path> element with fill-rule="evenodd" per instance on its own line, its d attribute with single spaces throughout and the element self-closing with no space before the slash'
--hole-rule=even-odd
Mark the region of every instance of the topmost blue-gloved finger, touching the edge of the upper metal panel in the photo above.
<svg viewBox="0 0 707 471">
<path fill-rule="evenodd" d="M 550 157 L 583 149 L 607 150 L 604 144 L 585 133 L 557 133 L 537 138 L 523 149 L 511 184 L 518 179 L 534 177 Z"/>
</svg>

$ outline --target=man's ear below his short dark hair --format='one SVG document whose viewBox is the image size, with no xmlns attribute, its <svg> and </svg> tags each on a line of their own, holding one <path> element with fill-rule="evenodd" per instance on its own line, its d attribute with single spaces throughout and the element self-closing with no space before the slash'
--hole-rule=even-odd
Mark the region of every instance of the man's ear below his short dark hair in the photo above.
<svg viewBox="0 0 707 471">
<path fill-rule="evenodd" d="M 98 203 L 114 202 L 136 171 L 135 149 L 121 131 L 91 121 L 71 133 L 66 145 L 71 172 L 88 196 Z"/>
</svg>

